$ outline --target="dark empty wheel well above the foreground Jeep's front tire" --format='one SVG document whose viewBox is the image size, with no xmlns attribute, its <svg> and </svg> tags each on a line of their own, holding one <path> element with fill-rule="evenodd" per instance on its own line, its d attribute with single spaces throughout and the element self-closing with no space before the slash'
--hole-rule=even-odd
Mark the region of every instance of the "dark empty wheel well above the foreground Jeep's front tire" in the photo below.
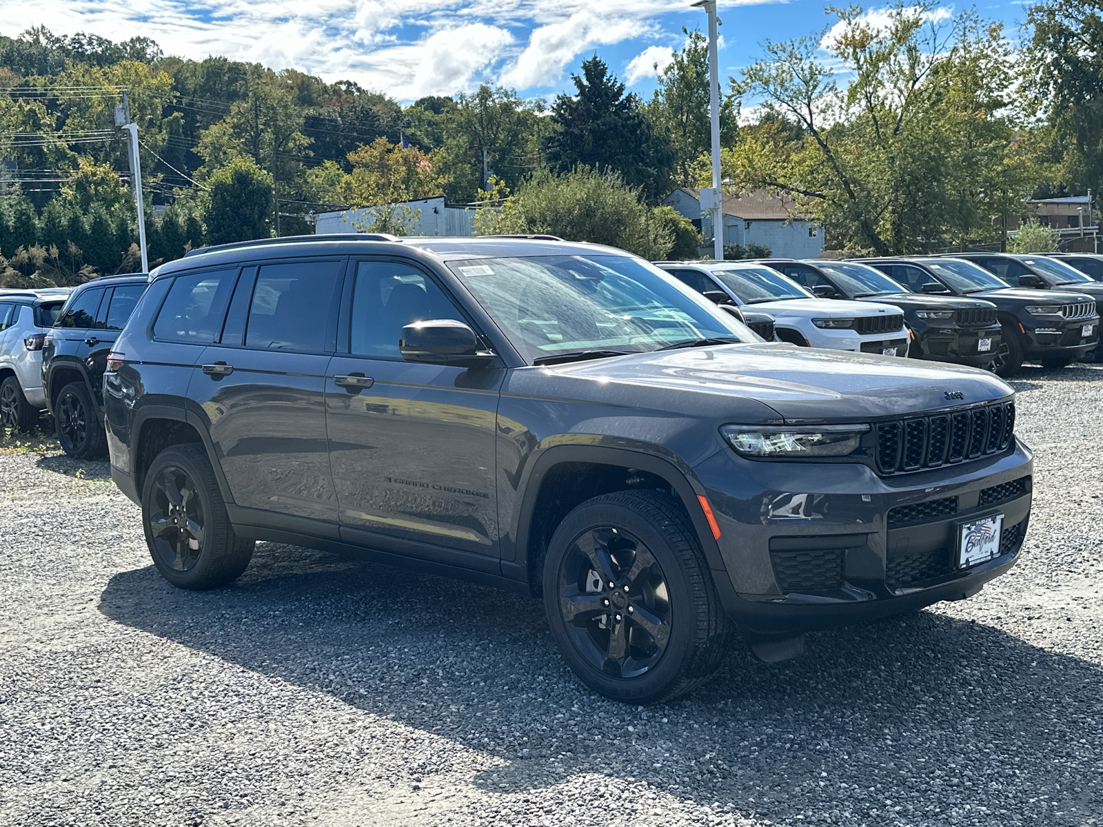
<svg viewBox="0 0 1103 827">
<path fill-rule="evenodd" d="M 614 491 L 660 491 L 684 507 L 674 486 L 658 474 L 624 465 L 599 462 L 561 462 L 540 480 L 533 518 L 528 526 L 528 587 L 534 597 L 543 592 L 544 558 L 559 524 L 577 505 Z"/>
</svg>

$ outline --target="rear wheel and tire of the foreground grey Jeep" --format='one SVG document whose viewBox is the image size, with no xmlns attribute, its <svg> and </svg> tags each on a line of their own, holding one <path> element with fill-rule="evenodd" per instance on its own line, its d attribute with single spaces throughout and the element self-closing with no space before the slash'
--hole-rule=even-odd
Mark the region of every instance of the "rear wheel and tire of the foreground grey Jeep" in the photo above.
<svg viewBox="0 0 1103 827">
<path fill-rule="evenodd" d="M 142 527 L 153 565 L 180 589 L 236 580 L 253 559 L 253 540 L 234 534 L 211 461 L 193 444 L 167 448 L 146 474 Z"/>
</svg>

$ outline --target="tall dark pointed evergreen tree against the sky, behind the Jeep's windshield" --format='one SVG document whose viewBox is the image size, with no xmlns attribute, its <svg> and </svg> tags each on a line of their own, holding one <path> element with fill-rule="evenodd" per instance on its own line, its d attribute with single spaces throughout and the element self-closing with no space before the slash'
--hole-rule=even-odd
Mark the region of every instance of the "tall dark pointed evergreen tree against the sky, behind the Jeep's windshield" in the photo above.
<svg viewBox="0 0 1103 827">
<path fill-rule="evenodd" d="M 567 172 L 578 164 L 611 169 L 650 198 L 666 195 L 671 150 L 655 135 L 640 98 L 625 95 L 624 84 L 597 55 L 582 63 L 581 76 L 571 78 L 577 94 L 559 95 L 552 106 L 552 121 L 558 127 L 545 140 L 552 169 Z"/>
</svg>

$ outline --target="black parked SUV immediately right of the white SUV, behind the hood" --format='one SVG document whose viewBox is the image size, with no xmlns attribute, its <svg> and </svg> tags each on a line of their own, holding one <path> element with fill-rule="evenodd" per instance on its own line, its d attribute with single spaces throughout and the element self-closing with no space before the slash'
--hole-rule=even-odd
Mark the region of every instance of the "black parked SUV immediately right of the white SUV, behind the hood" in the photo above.
<svg viewBox="0 0 1103 827">
<path fill-rule="evenodd" d="M 996 305 L 975 298 L 912 292 L 903 282 L 857 261 L 763 260 L 823 299 L 893 304 L 911 331 L 908 355 L 994 368 L 1000 348 Z"/>
</svg>

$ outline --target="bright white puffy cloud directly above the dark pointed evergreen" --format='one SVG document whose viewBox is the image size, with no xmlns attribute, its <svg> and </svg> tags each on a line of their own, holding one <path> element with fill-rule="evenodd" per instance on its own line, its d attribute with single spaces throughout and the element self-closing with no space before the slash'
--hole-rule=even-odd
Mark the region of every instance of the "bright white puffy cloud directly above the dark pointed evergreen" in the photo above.
<svg viewBox="0 0 1103 827">
<path fill-rule="evenodd" d="M 534 29 L 528 45 L 516 62 L 502 73 L 501 83 L 522 89 L 548 86 L 563 75 L 575 56 L 599 44 L 618 43 L 642 33 L 639 20 L 598 17 L 577 11 L 567 20 Z"/>
</svg>

